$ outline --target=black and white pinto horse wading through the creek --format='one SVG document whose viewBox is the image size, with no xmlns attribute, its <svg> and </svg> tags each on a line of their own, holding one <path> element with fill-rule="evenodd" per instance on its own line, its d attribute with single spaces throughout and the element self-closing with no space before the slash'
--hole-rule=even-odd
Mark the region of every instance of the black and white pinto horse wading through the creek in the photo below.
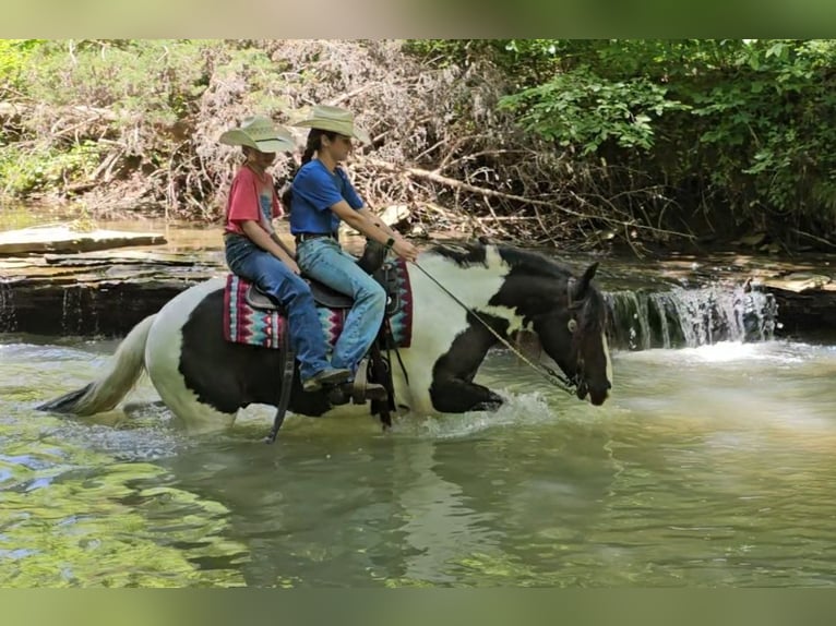
<svg viewBox="0 0 836 626">
<path fill-rule="evenodd" d="M 592 284 L 596 268 L 574 277 L 541 254 L 483 243 L 422 252 L 408 265 L 411 344 L 391 368 L 398 410 L 431 416 L 497 409 L 503 398 L 474 377 L 488 350 L 500 341 L 510 346 L 519 332 L 533 332 L 541 346 L 539 362 L 532 364 L 560 368 L 580 399 L 588 395 L 601 405 L 612 377 L 607 308 Z M 224 340 L 224 287 L 223 279 L 212 279 L 178 294 L 133 327 L 98 380 L 39 408 L 77 416 L 110 410 L 143 371 L 190 431 L 228 428 L 250 404 L 278 406 L 282 350 Z M 298 370 L 291 389 L 296 414 L 365 408 L 333 407 L 324 390 L 304 393 Z"/>
</svg>

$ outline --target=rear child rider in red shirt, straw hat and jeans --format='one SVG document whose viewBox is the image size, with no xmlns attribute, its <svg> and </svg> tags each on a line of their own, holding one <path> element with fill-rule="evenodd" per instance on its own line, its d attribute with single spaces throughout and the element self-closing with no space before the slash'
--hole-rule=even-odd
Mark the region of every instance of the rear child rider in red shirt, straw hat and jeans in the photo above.
<svg viewBox="0 0 836 626">
<path fill-rule="evenodd" d="M 238 276 L 255 282 L 287 310 L 290 346 L 299 360 L 302 388 L 315 392 L 351 377 L 348 369 L 333 368 L 308 284 L 299 277 L 292 254 L 273 230 L 282 207 L 266 169 L 277 152 L 292 151 L 290 133 L 270 119 L 248 118 L 220 135 L 220 143 L 242 146 L 244 164 L 232 179 L 226 205 L 226 261 Z"/>
</svg>

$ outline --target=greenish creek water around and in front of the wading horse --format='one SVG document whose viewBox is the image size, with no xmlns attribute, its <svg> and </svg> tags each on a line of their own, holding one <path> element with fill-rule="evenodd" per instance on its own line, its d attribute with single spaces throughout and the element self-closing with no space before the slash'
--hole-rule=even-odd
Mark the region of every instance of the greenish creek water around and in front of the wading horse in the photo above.
<svg viewBox="0 0 836 626">
<path fill-rule="evenodd" d="M 112 341 L 0 336 L 0 586 L 824 586 L 836 349 L 614 354 L 600 409 L 504 353 L 497 414 L 290 418 L 188 438 L 147 383 L 74 421 L 37 401 Z"/>
</svg>

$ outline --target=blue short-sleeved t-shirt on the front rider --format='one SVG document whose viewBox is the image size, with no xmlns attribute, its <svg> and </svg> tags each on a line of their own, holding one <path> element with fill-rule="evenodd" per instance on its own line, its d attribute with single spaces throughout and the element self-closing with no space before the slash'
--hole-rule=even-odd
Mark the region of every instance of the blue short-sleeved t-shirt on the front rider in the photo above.
<svg viewBox="0 0 836 626">
<path fill-rule="evenodd" d="M 331 207 L 341 200 L 355 210 L 363 207 L 346 172 L 339 167 L 332 172 L 319 159 L 310 160 L 299 169 L 291 189 L 290 232 L 294 234 L 336 232 L 339 217 Z"/>
</svg>

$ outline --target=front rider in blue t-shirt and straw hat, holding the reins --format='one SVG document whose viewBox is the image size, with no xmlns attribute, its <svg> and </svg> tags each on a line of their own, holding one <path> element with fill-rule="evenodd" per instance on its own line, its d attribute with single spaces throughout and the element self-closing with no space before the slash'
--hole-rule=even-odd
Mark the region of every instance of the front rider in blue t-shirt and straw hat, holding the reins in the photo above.
<svg viewBox="0 0 836 626">
<path fill-rule="evenodd" d="M 341 107 L 319 105 L 294 124 L 311 129 L 302 166 L 294 177 L 290 232 L 296 236 L 299 267 L 329 287 L 354 297 L 331 363 L 357 371 L 360 360 L 378 336 L 386 305 L 383 288 L 343 252 L 337 241 L 341 220 L 384 244 L 407 261 L 418 249 L 390 229 L 357 195 L 338 166 L 351 152 L 351 140 L 370 143 L 354 115 Z"/>
</svg>

